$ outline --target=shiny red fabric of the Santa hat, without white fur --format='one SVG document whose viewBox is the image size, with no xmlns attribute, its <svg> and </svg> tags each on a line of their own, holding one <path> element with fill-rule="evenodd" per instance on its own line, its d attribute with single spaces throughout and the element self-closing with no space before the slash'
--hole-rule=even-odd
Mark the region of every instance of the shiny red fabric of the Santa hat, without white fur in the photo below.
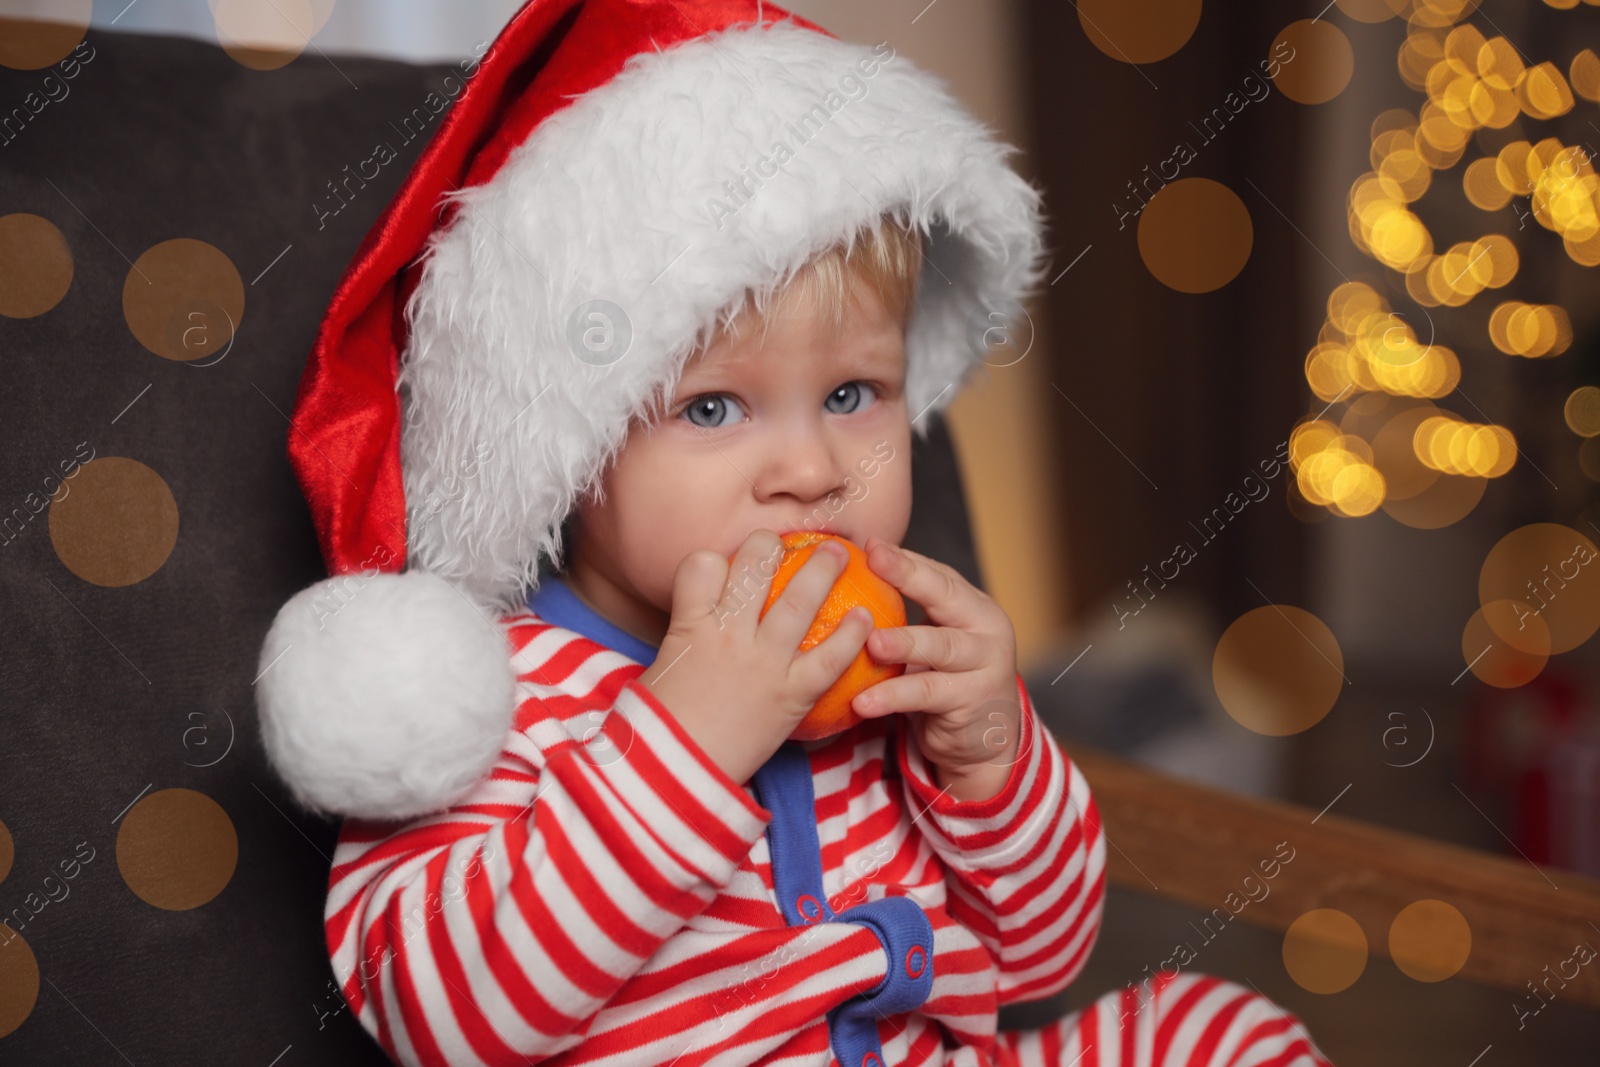
<svg viewBox="0 0 1600 1067">
<path fill-rule="evenodd" d="M 550 112 L 605 83 L 630 58 L 739 21 L 792 19 L 744 0 L 587 3 L 533 0 L 506 24 L 362 240 L 334 290 L 294 398 L 290 459 L 330 574 L 406 560 L 395 379 L 405 347 L 402 280 L 448 224 L 446 192 L 490 181 Z M 405 278 L 414 283 L 414 274 Z"/>
</svg>

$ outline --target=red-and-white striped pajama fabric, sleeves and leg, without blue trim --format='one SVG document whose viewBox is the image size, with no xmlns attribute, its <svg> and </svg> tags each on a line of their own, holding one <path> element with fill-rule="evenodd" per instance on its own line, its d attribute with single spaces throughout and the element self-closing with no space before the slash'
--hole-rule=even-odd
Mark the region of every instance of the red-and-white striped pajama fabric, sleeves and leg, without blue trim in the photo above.
<svg viewBox="0 0 1600 1067">
<path fill-rule="evenodd" d="M 827 1013 L 901 960 L 866 923 L 789 925 L 773 813 L 638 685 L 643 665 L 528 609 L 501 627 L 517 715 L 491 774 L 448 811 L 341 827 L 326 941 L 362 1025 L 430 1067 L 837 1062 Z M 904 896 L 931 931 L 926 998 L 877 1019 L 883 1067 L 1326 1064 L 1269 1000 L 1187 973 L 997 1032 L 1000 1005 L 1083 968 L 1106 886 L 1088 784 L 1021 677 L 1018 696 L 1021 755 L 984 801 L 938 789 L 896 717 L 800 745 L 827 907 Z"/>
</svg>

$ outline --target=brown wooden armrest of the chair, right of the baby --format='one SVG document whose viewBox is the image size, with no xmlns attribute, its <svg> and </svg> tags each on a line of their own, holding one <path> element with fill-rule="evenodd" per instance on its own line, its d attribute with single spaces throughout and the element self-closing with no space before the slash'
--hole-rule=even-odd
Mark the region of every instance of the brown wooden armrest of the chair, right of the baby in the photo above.
<svg viewBox="0 0 1600 1067">
<path fill-rule="evenodd" d="M 1600 965 L 1579 966 L 1565 987 L 1550 981 L 1578 944 L 1600 947 L 1594 878 L 1194 785 L 1090 749 L 1069 755 L 1099 806 L 1107 877 L 1117 886 L 1218 909 L 1227 894 L 1243 896 L 1245 875 L 1259 880 L 1258 864 L 1288 841 L 1293 861 L 1238 918 L 1282 931 L 1310 909 L 1334 907 L 1360 923 L 1371 952 L 1389 955 L 1389 925 L 1400 909 L 1438 899 L 1472 928 L 1458 977 L 1525 995 L 1533 982 L 1541 997 L 1600 1008 Z"/>
</svg>

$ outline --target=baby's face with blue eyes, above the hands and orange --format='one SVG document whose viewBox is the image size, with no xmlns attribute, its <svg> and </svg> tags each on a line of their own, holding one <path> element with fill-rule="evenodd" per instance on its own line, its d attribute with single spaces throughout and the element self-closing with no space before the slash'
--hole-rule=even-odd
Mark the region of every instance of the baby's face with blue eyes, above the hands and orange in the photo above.
<svg viewBox="0 0 1600 1067">
<path fill-rule="evenodd" d="M 755 530 L 899 544 L 910 522 L 906 338 L 870 285 L 837 341 L 810 299 L 686 365 L 667 416 L 635 422 L 578 506 L 570 581 L 602 614 L 659 643 L 685 555 L 731 557 Z"/>
</svg>

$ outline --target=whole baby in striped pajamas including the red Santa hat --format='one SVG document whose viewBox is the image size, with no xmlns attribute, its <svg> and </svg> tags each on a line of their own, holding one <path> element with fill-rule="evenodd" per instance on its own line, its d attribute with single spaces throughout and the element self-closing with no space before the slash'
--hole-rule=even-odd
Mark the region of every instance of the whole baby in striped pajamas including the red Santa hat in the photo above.
<svg viewBox="0 0 1600 1067">
<path fill-rule="evenodd" d="M 762 0 L 531 0 L 483 56 L 307 363 L 334 577 L 258 675 L 275 769 L 346 816 L 326 947 L 392 1059 L 1326 1064 L 1195 973 L 998 1029 L 1083 969 L 1107 845 L 1005 609 L 899 547 L 912 434 L 1045 275 L 1005 157 Z M 925 622 L 802 653 L 843 561 L 763 616 L 794 530 Z M 862 649 L 904 673 L 792 741 Z"/>
</svg>

